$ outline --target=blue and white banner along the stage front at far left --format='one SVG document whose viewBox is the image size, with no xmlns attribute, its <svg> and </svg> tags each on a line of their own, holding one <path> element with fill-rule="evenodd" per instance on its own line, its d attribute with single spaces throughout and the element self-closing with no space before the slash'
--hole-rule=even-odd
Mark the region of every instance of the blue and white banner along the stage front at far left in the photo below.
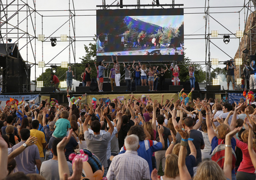
<svg viewBox="0 0 256 180">
<path fill-rule="evenodd" d="M 0 100 L 2 101 L 0 106 L 5 106 L 10 101 L 10 98 L 13 98 L 15 101 L 20 102 L 22 101 L 22 98 L 24 97 L 24 100 L 27 101 L 35 101 L 35 104 L 40 102 L 39 100 L 39 94 L 26 94 L 26 95 L 0 95 Z"/>
</svg>

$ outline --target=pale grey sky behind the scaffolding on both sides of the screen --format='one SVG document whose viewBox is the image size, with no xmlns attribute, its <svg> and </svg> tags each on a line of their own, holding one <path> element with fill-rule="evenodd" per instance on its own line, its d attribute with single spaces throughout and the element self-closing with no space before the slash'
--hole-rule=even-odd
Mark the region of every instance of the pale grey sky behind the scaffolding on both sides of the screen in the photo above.
<svg viewBox="0 0 256 180">
<path fill-rule="evenodd" d="M 10 0 L 7 0 L 10 3 Z M 114 0 L 105 0 L 106 4 L 112 4 Z M 246 3 L 249 0 L 246 1 Z M 17 1 L 16 1 L 17 2 Z M 22 2 L 18 1 L 22 10 L 26 10 L 26 7 L 22 8 Z M 61 2 L 61 3 L 60 3 Z M 137 4 L 137 0 L 123 1 L 124 4 Z M 142 4 L 152 4 L 152 1 L 149 0 L 140 0 Z M 160 0 L 160 4 L 170 4 L 170 0 Z M 230 4 L 232 2 L 232 4 Z M 75 35 L 73 33 L 73 28 L 69 26 L 69 6 L 70 9 L 73 9 L 72 1 L 62 0 L 62 1 L 35 1 L 36 13 L 32 13 L 32 16 L 26 19 L 27 12 L 20 11 L 18 16 L 15 15 L 9 20 L 9 24 L 15 27 L 19 23 L 19 34 L 17 30 L 13 30 L 12 34 L 8 35 L 14 41 L 17 40 L 17 37 L 23 37 L 18 41 L 18 46 L 20 49 L 20 54 L 22 55 L 25 61 L 34 63 L 34 57 L 36 62 L 45 61 L 45 63 L 50 64 L 60 64 L 61 61 L 70 61 L 71 63 L 77 62 L 80 63 L 82 56 L 85 55 L 84 44 L 88 45 L 90 42 L 94 43 L 92 37 L 96 34 L 96 5 L 101 5 L 102 1 L 82 1 L 74 0 L 74 7 L 77 10 L 75 12 L 75 18 L 70 22 L 75 23 Z M 205 54 L 205 19 L 204 7 L 205 1 L 188 1 L 188 0 L 176 0 L 176 4 L 184 4 L 184 46 L 185 46 L 185 56 L 191 59 L 192 62 L 202 62 L 202 67 L 205 68 L 203 64 L 205 59 L 208 59 L 208 54 Z M 206 2 L 208 4 L 208 1 Z M 33 1 L 28 0 L 30 7 L 34 7 Z M 116 3 L 114 3 L 116 4 Z M 209 1 L 209 12 L 212 17 L 209 19 L 209 30 L 218 30 L 219 38 L 211 38 L 211 41 L 214 44 L 210 44 L 210 58 L 219 58 L 219 61 L 226 61 L 230 57 L 234 57 L 239 47 L 239 39 L 234 38 L 233 35 L 230 35 L 231 39 L 228 44 L 224 44 L 222 36 L 224 34 L 236 33 L 237 30 L 244 30 L 244 21 L 247 10 L 244 11 L 242 8 L 244 1 L 242 0 L 232 0 L 232 1 L 220 1 L 220 0 L 210 0 Z M 233 8 L 228 8 L 232 6 Z M 240 7 L 236 7 L 240 6 Z M 222 8 L 221 8 L 222 7 Z M 227 7 L 227 8 L 224 8 Z M 142 7 L 143 8 L 143 7 Z M 157 7 L 156 7 L 157 8 Z M 182 7 L 181 7 L 182 8 Z M 116 9 L 116 8 L 112 8 Z M 129 7 L 132 9 L 132 7 Z M 8 7 L 8 17 L 10 17 L 17 10 L 17 6 Z M 170 9 L 171 10 L 171 9 Z M 254 10 L 254 8 L 253 8 Z M 138 10 L 139 11 L 139 10 Z M 1 14 L 3 17 L 3 14 Z M 239 19 L 240 18 L 240 19 Z M 27 23 L 28 22 L 28 23 Z M 28 26 L 27 26 L 28 24 Z M 240 28 L 239 28 L 240 24 Z M 33 29 L 36 29 L 36 32 Z M 56 37 L 57 45 L 52 47 L 49 39 L 46 42 L 41 42 L 37 40 L 32 40 L 31 44 L 26 46 L 29 42 L 29 38 L 26 38 L 26 35 L 22 36 L 21 32 L 27 31 L 32 36 L 37 36 L 38 34 L 44 34 L 45 37 Z M 230 33 L 230 32 L 231 33 Z M 2 35 L 6 32 L 6 25 L 2 28 Z M 69 41 L 60 41 L 61 34 L 67 34 L 71 37 L 76 38 L 76 43 L 73 43 L 73 48 L 69 50 Z M 208 27 L 207 27 L 208 33 Z M 195 39 L 197 38 L 197 39 Z M 13 42 L 14 42 L 13 41 Z M 223 53 L 222 49 L 225 53 Z M 31 48 L 32 47 L 32 48 Z M 64 49 L 64 50 L 63 50 Z M 74 50 L 75 49 L 75 50 Z M 55 57 L 55 58 L 54 58 Z M 222 67 L 223 65 L 219 65 Z M 217 66 L 213 66 L 215 68 Z M 31 80 L 35 80 L 45 71 L 45 68 L 38 68 L 33 66 L 31 68 Z"/>
</svg>

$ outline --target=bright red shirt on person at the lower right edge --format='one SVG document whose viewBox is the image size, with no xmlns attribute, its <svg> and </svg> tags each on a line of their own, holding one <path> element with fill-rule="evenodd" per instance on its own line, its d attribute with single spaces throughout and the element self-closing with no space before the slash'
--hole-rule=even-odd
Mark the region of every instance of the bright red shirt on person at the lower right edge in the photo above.
<svg viewBox="0 0 256 180">
<path fill-rule="evenodd" d="M 247 172 L 247 173 L 254 173 L 255 168 L 253 167 L 253 164 L 251 162 L 251 158 L 250 158 L 249 151 L 248 151 L 248 145 L 237 139 L 237 146 L 243 152 L 243 161 L 241 162 L 241 164 L 238 168 L 238 171 Z"/>
</svg>

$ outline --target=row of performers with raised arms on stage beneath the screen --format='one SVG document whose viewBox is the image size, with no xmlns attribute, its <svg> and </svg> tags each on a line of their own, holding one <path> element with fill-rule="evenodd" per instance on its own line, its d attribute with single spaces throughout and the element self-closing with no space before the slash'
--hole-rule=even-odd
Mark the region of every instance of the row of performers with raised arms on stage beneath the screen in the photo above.
<svg viewBox="0 0 256 180">
<path fill-rule="evenodd" d="M 114 86 L 120 86 L 120 64 L 118 62 L 118 56 L 116 55 L 116 58 L 114 59 L 113 56 L 112 62 L 113 62 L 113 67 L 110 70 L 109 74 L 109 79 L 111 82 L 111 89 L 112 91 L 114 90 Z M 98 66 L 95 64 L 95 68 L 97 70 L 97 82 L 98 82 L 98 88 L 99 92 L 103 92 L 102 90 L 102 85 L 103 85 L 103 72 L 109 65 L 106 64 L 104 65 L 104 60 L 98 62 Z M 124 66 L 124 80 L 127 86 L 127 91 L 132 90 L 132 82 L 134 80 L 135 86 L 150 86 L 150 91 L 157 91 L 158 90 L 164 90 L 164 85 L 165 85 L 165 73 L 168 69 L 173 71 L 173 85 L 179 85 L 180 80 L 179 80 L 179 74 L 180 74 L 180 68 L 178 65 L 175 65 L 172 63 L 172 65 L 168 68 L 166 64 L 164 64 L 163 67 L 160 67 L 158 70 L 159 66 L 150 66 L 149 68 L 146 67 L 145 64 L 141 64 L 140 62 L 136 63 L 135 61 L 133 62 L 133 65 L 125 65 L 123 62 Z M 108 67 L 109 68 L 109 67 Z M 134 71 L 134 75 L 132 75 L 132 70 Z M 90 86 L 91 85 L 91 73 L 92 68 L 90 68 L 90 64 L 86 64 L 86 69 L 84 72 L 81 74 L 82 78 L 82 84 L 83 86 Z M 195 88 L 195 66 L 194 64 L 190 64 L 188 67 L 188 72 L 189 72 L 189 81 L 190 81 L 190 86 L 191 88 Z M 159 84 L 158 84 L 159 82 Z"/>
</svg>

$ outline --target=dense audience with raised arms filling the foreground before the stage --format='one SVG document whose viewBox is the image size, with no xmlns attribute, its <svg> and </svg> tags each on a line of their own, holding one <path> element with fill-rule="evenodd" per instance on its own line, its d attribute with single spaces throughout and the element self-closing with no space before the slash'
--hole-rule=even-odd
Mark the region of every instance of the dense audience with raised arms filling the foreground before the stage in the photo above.
<svg viewBox="0 0 256 180">
<path fill-rule="evenodd" d="M 255 179 L 255 105 L 190 94 L 87 105 L 68 96 L 68 106 L 38 108 L 11 99 L 0 112 L 0 179 Z"/>
</svg>

